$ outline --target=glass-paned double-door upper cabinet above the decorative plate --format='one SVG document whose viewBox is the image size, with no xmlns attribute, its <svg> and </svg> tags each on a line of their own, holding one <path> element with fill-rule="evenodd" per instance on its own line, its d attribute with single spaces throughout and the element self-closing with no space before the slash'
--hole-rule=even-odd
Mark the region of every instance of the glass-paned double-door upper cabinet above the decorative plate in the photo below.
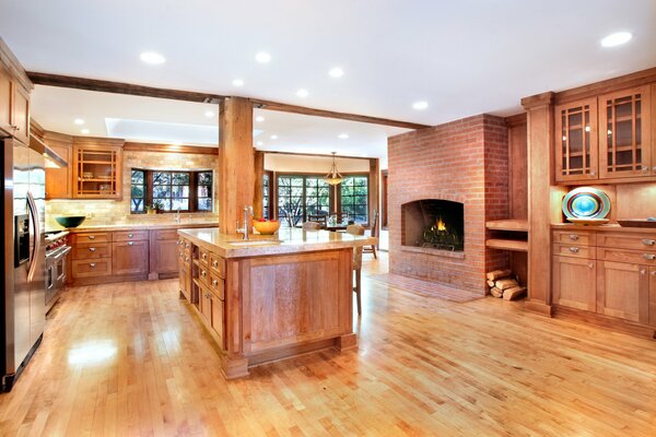
<svg viewBox="0 0 656 437">
<path fill-rule="evenodd" d="M 656 180 L 651 123 L 655 87 L 643 85 L 557 105 L 555 180 Z"/>
</svg>

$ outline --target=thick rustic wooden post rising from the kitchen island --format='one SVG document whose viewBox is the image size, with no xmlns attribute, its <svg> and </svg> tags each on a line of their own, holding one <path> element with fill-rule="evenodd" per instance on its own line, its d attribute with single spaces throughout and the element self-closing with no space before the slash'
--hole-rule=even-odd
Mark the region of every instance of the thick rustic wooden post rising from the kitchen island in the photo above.
<svg viewBox="0 0 656 437">
<path fill-rule="evenodd" d="M 230 97 L 219 111 L 219 225 L 234 234 L 244 220 L 244 206 L 253 205 L 255 184 L 253 106 L 243 97 Z"/>
</svg>

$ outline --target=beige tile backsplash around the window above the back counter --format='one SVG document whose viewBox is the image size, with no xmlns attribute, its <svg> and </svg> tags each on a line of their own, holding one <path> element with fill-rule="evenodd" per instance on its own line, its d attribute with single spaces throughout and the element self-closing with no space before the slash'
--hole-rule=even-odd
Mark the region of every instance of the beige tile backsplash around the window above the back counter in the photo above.
<svg viewBox="0 0 656 437">
<path fill-rule="evenodd" d="M 219 165 L 216 155 L 160 152 L 124 152 L 122 199 L 89 200 L 57 199 L 46 202 L 46 228 L 58 229 L 61 226 L 55 221 L 60 215 L 86 215 L 82 226 L 109 224 L 155 224 L 173 222 L 173 214 L 130 214 L 130 174 L 132 168 L 149 169 L 215 169 Z M 216 221 L 216 176 L 214 175 L 214 212 L 181 213 L 184 223 Z"/>
</svg>

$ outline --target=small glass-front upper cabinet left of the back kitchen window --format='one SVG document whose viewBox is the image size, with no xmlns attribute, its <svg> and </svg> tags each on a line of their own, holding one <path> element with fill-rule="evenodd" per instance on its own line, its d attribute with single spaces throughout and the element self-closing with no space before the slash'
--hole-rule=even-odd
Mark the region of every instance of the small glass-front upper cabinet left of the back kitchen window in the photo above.
<svg viewBox="0 0 656 437">
<path fill-rule="evenodd" d="M 122 141 L 81 141 L 73 140 L 73 198 L 120 199 Z"/>
</svg>

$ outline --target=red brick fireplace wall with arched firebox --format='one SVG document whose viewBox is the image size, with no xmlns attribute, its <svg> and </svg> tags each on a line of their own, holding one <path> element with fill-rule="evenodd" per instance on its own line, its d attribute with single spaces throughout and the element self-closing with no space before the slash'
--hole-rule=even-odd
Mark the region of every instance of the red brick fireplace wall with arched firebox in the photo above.
<svg viewBox="0 0 656 437">
<path fill-rule="evenodd" d="M 507 153 L 505 121 L 490 115 L 388 140 L 391 273 L 485 293 L 485 272 L 507 265 L 505 252 L 485 248 L 485 221 L 508 214 Z M 448 206 L 461 210 L 459 225 Z M 440 239 L 458 233 L 461 247 Z"/>
</svg>

